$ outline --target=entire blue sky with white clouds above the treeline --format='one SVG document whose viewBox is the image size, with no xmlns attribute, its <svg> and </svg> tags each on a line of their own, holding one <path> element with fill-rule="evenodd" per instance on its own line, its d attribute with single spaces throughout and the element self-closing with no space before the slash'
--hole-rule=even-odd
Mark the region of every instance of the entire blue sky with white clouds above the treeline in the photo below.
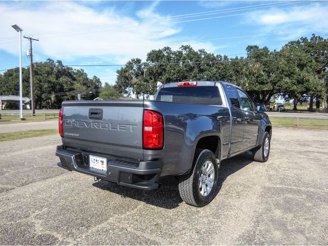
<svg viewBox="0 0 328 246">
<path fill-rule="evenodd" d="M 328 36 L 328 1 L 0 2 L 0 13 L 0 70 L 19 64 L 13 24 L 39 39 L 34 61 L 60 59 L 64 65 L 120 65 L 145 59 L 152 49 L 185 44 L 243 56 L 248 45 L 280 49 L 312 33 Z M 28 46 L 23 38 L 23 66 L 29 65 Z M 118 68 L 83 67 L 110 84 Z"/>
</svg>

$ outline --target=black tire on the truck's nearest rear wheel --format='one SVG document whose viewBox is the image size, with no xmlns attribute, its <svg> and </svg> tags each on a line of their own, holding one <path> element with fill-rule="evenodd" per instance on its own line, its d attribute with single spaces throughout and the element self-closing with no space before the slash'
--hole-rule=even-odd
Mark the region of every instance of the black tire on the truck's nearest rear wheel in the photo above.
<svg viewBox="0 0 328 246">
<path fill-rule="evenodd" d="M 207 167 L 212 167 L 210 166 L 211 164 L 209 164 L 210 162 L 208 161 L 213 163 L 214 177 L 211 177 L 211 175 L 213 174 L 212 171 L 212 174 L 206 173 L 206 175 L 204 175 L 206 177 L 203 177 L 203 179 L 206 180 L 200 180 L 202 170 L 203 168 L 205 168 L 205 166 L 203 165 L 207 165 Z M 214 195 L 216 194 L 215 191 L 217 188 L 218 173 L 218 165 L 213 152 L 210 150 L 196 149 L 192 171 L 189 174 L 179 176 L 178 187 L 182 200 L 185 201 L 187 204 L 190 204 L 195 207 L 203 207 L 206 204 L 210 203 L 214 199 Z M 208 194 L 201 195 L 203 189 L 200 187 L 200 182 L 208 182 L 207 178 L 209 178 L 209 180 L 210 178 L 214 179 L 214 182 L 212 183 L 212 188 Z M 206 189 L 204 189 L 204 191 L 208 191 L 207 187 L 209 186 L 206 183 Z"/>
</svg>

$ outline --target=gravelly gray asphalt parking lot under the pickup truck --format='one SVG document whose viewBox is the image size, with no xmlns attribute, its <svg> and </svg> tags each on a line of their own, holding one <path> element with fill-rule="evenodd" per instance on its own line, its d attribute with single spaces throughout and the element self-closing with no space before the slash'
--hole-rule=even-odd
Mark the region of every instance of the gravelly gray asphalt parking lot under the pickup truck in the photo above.
<svg viewBox="0 0 328 246">
<path fill-rule="evenodd" d="M 223 161 L 203 208 L 56 166 L 59 136 L 0 143 L 0 244 L 328 244 L 328 131 L 275 128 L 268 162 Z"/>
</svg>

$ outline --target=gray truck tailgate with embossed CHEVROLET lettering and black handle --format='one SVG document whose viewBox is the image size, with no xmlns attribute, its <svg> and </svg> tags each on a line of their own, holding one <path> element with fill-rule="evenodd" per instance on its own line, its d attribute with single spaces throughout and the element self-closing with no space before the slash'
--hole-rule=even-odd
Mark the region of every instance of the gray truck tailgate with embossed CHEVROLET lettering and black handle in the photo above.
<svg viewBox="0 0 328 246">
<path fill-rule="evenodd" d="M 142 160 L 142 101 L 64 101 L 66 148 Z"/>
</svg>

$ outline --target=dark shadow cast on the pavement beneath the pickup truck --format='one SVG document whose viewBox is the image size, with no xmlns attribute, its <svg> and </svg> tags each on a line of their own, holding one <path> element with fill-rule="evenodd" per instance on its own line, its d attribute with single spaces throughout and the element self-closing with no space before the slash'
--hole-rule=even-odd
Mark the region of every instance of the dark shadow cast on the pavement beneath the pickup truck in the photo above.
<svg viewBox="0 0 328 246">
<path fill-rule="evenodd" d="M 228 160 L 223 160 L 220 165 L 219 182 L 215 195 L 217 195 L 221 190 L 222 183 L 229 175 L 239 171 L 251 162 L 253 162 L 251 152 L 243 153 Z M 161 183 L 161 187 L 159 189 L 149 191 L 119 186 L 114 182 L 109 182 L 106 180 L 95 182 L 93 183 L 93 186 L 114 192 L 121 197 L 129 197 L 157 207 L 165 209 L 177 208 L 179 203 L 182 202 L 178 190 L 178 179 L 173 176 L 162 177 L 159 179 L 159 183 Z"/>
</svg>

